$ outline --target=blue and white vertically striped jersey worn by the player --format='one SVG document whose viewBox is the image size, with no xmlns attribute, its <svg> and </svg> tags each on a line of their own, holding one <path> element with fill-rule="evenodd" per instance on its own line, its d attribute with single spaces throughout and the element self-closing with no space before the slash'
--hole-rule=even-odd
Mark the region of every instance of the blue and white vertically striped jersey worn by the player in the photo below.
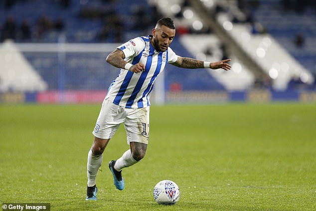
<svg viewBox="0 0 316 211">
<path fill-rule="evenodd" d="M 150 95 L 154 82 L 165 64 L 173 63 L 178 56 L 170 47 L 164 52 L 156 51 L 149 36 L 137 37 L 118 47 L 125 54 L 125 61 L 131 64 L 141 62 L 145 71 L 134 73 L 120 69 L 118 77 L 109 87 L 106 99 L 113 98 L 113 103 L 126 108 L 150 106 Z"/>
</svg>

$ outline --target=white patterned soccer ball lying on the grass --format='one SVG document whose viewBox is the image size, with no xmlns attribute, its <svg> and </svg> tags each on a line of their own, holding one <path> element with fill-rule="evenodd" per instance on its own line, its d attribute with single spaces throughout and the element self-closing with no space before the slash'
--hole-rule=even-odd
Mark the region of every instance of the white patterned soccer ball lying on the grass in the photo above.
<svg viewBox="0 0 316 211">
<path fill-rule="evenodd" d="M 154 199 L 158 204 L 174 205 L 179 197 L 179 187 L 170 180 L 162 180 L 154 188 Z"/>
</svg>

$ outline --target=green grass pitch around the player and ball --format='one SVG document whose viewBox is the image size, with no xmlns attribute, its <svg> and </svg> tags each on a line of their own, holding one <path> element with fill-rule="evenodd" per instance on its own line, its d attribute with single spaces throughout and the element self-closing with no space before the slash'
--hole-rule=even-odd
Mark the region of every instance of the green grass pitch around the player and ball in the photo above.
<svg viewBox="0 0 316 211">
<path fill-rule="evenodd" d="M 316 105 L 224 104 L 151 107 L 143 161 L 123 170 L 124 191 L 107 163 L 129 146 L 124 127 L 110 141 L 85 201 L 86 162 L 100 105 L 0 105 L 0 203 L 51 203 L 52 211 L 315 211 Z M 177 183 L 174 206 L 153 188 Z"/>
</svg>

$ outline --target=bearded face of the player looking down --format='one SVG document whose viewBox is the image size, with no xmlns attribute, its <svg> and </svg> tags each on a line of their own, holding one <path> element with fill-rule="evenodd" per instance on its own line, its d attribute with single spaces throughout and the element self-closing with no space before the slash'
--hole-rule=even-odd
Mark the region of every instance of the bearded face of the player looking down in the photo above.
<svg viewBox="0 0 316 211">
<path fill-rule="evenodd" d="M 157 51 L 166 51 L 175 35 L 175 29 L 165 25 L 157 26 L 153 29 L 154 48 Z"/>
</svg>

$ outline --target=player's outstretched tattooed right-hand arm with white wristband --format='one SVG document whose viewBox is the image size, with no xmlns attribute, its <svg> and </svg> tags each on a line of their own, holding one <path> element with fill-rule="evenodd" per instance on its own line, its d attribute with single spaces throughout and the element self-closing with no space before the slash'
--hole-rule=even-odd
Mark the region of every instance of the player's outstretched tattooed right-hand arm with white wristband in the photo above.
<svg viewBox="0 0 316 211">
<path fill-rule="evenodd" d="M 225 59 L 216 62 L 205 62 L 193 58 L 181 57 L 178 56 L 178 59 L 171 63 L 174 66 L 188 68 L 188 69 L 196 69 L 196 68 L 211 68 L 211 69 L 219 69 L 222 68 L 224 70 L 230 70 L 231 66 L 227 63 L 231 59 Z"/>
</svg>

